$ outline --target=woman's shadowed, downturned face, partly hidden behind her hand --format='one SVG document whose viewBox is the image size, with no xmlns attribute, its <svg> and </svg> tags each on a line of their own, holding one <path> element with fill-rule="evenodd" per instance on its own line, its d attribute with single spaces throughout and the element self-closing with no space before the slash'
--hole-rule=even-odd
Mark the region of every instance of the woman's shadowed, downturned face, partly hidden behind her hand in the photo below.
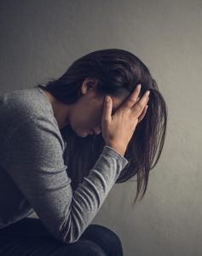
<svg viewBox="0 0 202 256">
<path fill-rule="evenodd" d="M 83 95 L 77 102 L 72 104 L 69 116 L 69 125 L 78 137 L 87 137 L 95 132 L 96 135 L 101 133 L 101 118 L 104 106 L 105 96 L 98 95 L 94 84 L 82 84 Z M 119 108 L 124 100 L 130 95 L 130 91 L 125 90 L 122 96 L 112 97 L 113 111 Z"/>
</svg>

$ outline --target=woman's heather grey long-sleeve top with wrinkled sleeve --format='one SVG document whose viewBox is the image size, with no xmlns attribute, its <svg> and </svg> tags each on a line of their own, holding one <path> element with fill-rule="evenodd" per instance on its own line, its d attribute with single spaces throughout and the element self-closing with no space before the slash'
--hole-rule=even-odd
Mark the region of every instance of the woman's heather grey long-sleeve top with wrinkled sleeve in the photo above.
<svg viewBox="0 0 202 256">
<path fill-rule="evenodd" d="M 56 239 L 78 241 L 128 160 L 105 146 L 72 190 L 65 148 L 52 105 L 38 86 L 0 96 L 0 229 L 36 212 Z"/>
</svg>

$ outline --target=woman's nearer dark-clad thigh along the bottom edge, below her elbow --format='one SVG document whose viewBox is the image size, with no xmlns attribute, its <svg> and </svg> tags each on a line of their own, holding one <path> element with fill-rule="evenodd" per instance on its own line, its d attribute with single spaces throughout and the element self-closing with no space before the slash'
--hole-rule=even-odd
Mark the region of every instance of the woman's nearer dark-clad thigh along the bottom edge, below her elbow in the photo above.
<svg viewBox="0 0 202 256">
<path fill-rule="evenodd" d="M 48 238 L 0 238 L 1 256 L 107 256 L 95 242 L 81 239 L 71 244 Z"/>
</svg>

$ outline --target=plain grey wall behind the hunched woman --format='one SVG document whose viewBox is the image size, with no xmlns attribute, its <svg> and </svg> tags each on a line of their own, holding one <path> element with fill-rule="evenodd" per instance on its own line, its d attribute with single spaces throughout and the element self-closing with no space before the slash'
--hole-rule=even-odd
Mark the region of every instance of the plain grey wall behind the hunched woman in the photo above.
<svg viewBox="0 0 202 256">
<path fill-rule="evenodd" d="M 95 49 L 121 48 L 150 68 L 169 108 L 147 194 L 116 184 L 96 215 L 124 255 L 202 255 L 202 1 L 1 1 L 1 93 L 57 78 Z"/>
</svg>

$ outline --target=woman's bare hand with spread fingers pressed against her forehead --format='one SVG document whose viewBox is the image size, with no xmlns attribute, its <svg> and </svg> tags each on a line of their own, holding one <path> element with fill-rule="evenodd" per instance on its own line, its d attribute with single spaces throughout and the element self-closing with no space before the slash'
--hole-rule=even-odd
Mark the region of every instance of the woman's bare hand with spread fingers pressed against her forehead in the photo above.
<svg viewBox="0 0 202 256">
<path fill-rule="evenodd" d="M 114 148 L 119 154 L 126 151 L 128 143 L 136 130 L 139 122 L 147 111 L 147 102 L 149 93 L 146 93 L 137 101 L 141 88 L 136 89 L 130 94 L 129 98 L 122 104 L 120 108 L 113 114 L 113 102 L 110 96 L 109 102 L 105 100 L 102 119 L 101 133 L 107 146 Z M 148 91 L 149 92 L 149 91 Z M 106 97 L 106 99 L 107 99 Z"/>
</svg>

